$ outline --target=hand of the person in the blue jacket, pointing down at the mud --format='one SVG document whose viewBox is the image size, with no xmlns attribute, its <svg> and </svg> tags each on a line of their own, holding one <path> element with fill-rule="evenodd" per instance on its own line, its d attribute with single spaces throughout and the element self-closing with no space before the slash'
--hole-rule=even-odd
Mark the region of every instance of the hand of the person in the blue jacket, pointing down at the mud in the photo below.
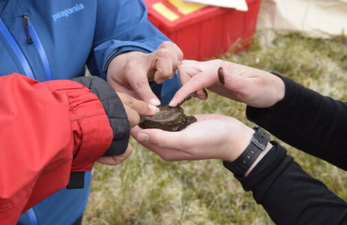
<svg viewBox="0 0 347 225">
<path fill-rule="evenodd" d="M 126 52 L 110 62 L 107 80 L 115 91 L 159 106 L 160 101 L 150 89 L 148 81 L 161 84 L 164 80 L 173 78 L 182 59 L 181 49 L 168 41 L 159 45 L 151 54 Z"/>
</svg>

